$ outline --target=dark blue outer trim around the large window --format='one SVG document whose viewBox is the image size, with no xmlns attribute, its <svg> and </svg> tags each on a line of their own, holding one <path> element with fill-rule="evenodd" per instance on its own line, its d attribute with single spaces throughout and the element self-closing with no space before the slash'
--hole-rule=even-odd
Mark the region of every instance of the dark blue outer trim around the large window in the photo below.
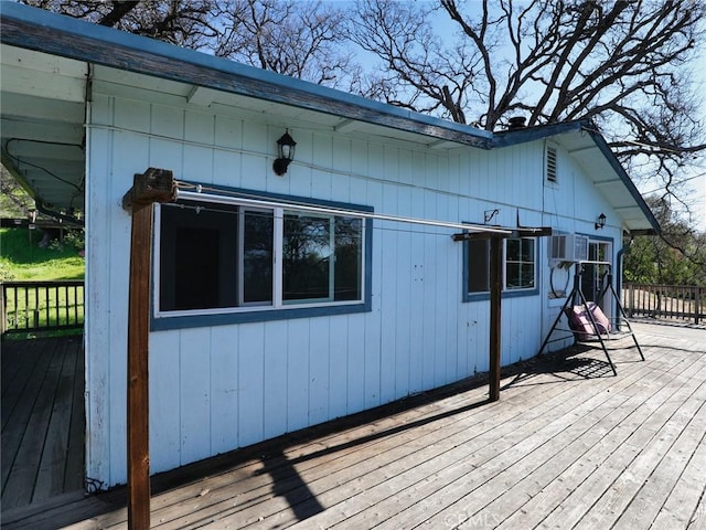
<svg viewBox="0 0 706 530">
<path fill-rule="evenodd" d="M 199 182 L 189 182 L 197 186 Z M 321 205 L 329 208 L 342 208 L 351 211 L 360 212 L 373 212 L 372 206 L 362 204 L 352 204 L 338 201 L 325 201 L 321 199 L 311 199 L 297 195 L 285 195 L 280 193 L 268 193 L 258 190 L 247 190 L 242 188 L 228 188 L 228 187 L 214 187 L 207 183 L 201 183 L 204 187 L 208 187 L 210 194 L 218 194 L 218 190 L 227 192 L 227 197 L 234 197 L 234 194 L 243 194 L 244 197 L 257 195 L 263 199 L 277 200 L 281 202 L 292 202 L 292 208 L 296 208 L 293 203 L 308 204 L 308 205 Z M 224 193 L 225 194 L 225 193 Z M 159 229 L 156 229 L 159 230 Z M 152 241 L 152 245 L 154 241 Z M 288 320 L 296 318 L 311 318 L 311 317 L 325 317 L 335 315 L 351 315 L 357 312 L 370 312 L 373 310 L 372 294 L 373 294 L 373 220 L 365 219 L 365 278 L 363 282 L 363 301 L 360 304 L 342 304 L 342 305 L 329 305 L 317 307 L 296 307 L 290 306 L 282 309 L 261 309 L 257 310 L 238 310 L 234 312 L 217 312 L 211 315 L 186 315 L 180 317 L 156 317 L 154 316 L 154 297 L 157 296 L 157 286 L 154 284 L 154 274 L 152 274 L 152 296 L 150 308 L 150 330 L 162 331 L 169 329 L 185 329 L 185 328 L 207 328 L 211 326 L 228 326 L 236 324 L 247 322 L 265 322 L 272 320 Z M 156 269 L 156 252 L 152 252 L 152 271 Z"/>
</svg>

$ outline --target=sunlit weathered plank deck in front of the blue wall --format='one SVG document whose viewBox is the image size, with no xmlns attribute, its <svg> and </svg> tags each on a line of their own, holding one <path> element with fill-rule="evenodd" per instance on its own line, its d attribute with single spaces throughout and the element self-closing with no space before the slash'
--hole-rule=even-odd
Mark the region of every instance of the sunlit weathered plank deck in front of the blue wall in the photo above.
<svg viewBox="0 0 706 530">
<path fill-rule="evenodd" d="M 152 528 L 706 528 L 706 329 L 545 356 L 153 478 Z M 125 489 L 3 520 L 126 528 Z"/>
</svg>

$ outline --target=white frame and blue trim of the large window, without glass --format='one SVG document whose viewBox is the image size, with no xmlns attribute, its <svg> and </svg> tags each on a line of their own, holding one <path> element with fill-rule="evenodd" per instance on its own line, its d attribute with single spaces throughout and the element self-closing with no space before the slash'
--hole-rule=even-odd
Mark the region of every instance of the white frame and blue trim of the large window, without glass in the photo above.
<svg viewBox="0 0 706 530">
<path fill-rule="evenodd" d="M 199 186 L 199 184 L 195 184 Z M 204 184 L 205 186 L 205 184 Z M 253 199 L 256 198 L 256 199 Z M 229 204 L 238 206 L 237 236 L 234 236 L 233 244 L 237 245 L 236 254 L 238 259 L 238 271 L 234 274 L 238 275 L 237 279 L 237 304 L 232 307 L 207 308 L 207 309 L 180 309 L 180 310 L 162 310 L 160 309 L 160 275 L 161 275 L 161 209 L 169 208 L 157 204 L 153 210 L 154 216 L 154 235 L 153 235 L 153 254 L 152 254 L 152 296 L 151 296 L 151 329 L 180 329 L 192 327 L 210 327 L 231 324 L 269 321 L 291 318 L 309 318 L 328 315 L 343 315 L 354 312 L 367 312 L 372 310 L 372 248 L 373 248 L 373 220 L 361 214 L 372 213 L 373 208 L 360 204 L 341 203 L 334 201 L 323 201 L 317 199 L 298 198 L 292 195 L 280 195 L 274 193 L 264 193 L 259 191 L 218 188 L 217 190 L 208 189 L 208 192 L 190 193 L 189 197 L 182 198 L 184 201 L 201 201 L 205 205 L 208 204 Z M 298 209 L 299 206 L 299 209 Z M 317 213 L 315 209 L 321 208 L 322 212 Z M 327 209 L 343 210 L 340 214 L 331 213 Z M 242 277 L 243 271 L 244 245 L 243 237 L 245 223 L 243 222 L 248 211 L 271 211 L 274 215 L 274 234 L 272 234 L 272 300 L 269 303 L 245 303 L 243 293 Z M 361 297 L 355 300 L 282 300 L 284 297 L 284 279 L 282 279 L 282 257 L 284 257 L 284 214 L 287 212 L 302 212 L 311 216 L 323 216 L 333 221 L 336 216 L 360 219 L 361 234 L 363 237 L 360 247 L 360 275 L 357 282 L 360 284 Z M 331 223 L 334 227 L 334 223 Z M 335 241 L 335 234 L 332 234 Z M 333 274 L 334 267 L 331 267 Z"/>
</svg>

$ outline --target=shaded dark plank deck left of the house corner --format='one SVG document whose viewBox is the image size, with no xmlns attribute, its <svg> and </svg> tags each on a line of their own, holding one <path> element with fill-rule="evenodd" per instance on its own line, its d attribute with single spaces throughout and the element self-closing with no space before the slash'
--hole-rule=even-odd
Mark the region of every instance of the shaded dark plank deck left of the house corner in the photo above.
<svg viewBox="0 0 706 530">
<path fill-rule="evenodd" d="M 84 489 L 81 337 L 2 342 L 2 516 Z"/>
</svg>

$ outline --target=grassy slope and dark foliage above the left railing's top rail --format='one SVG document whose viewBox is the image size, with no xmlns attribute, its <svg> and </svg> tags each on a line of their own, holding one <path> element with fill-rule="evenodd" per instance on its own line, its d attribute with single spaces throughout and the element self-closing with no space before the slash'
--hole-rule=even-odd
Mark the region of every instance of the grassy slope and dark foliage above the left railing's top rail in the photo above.
<svg viewBox="0 0 706 530">
<path fill-rule="evenodd" d="M 0 279 L 40 282 L 84 279 L 85 263 L 78 251 L 64 243 L 62 248 L 40 248 L 40 231 L 0 229 Z"/>
</svg>

